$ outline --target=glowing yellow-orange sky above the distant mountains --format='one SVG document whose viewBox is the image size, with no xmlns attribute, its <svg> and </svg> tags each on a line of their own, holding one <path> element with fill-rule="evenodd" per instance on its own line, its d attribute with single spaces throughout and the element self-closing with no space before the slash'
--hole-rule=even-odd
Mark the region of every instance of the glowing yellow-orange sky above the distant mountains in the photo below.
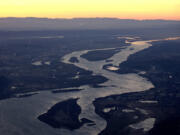
<svg viewBox="0 0 180 135">
<path fill-rule="evenodd" d="M 180 0 L 1 0 L 0 17 L 180 20 Z"/>
</svg>

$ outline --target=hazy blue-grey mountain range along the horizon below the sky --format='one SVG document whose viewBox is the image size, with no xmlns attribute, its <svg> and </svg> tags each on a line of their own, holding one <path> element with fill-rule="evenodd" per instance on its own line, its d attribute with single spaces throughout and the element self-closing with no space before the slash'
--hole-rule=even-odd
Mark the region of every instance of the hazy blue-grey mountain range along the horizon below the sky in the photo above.
<svg viewBox="0 0 180 135">
<path fill-rule="evenodd" d="M 84 30 L 84 29 L 132 29 L 132 28 L 177 28 L 180 21 L 129 20 L 117 18 L 0 18 L 0 30 Z"/>
</svg>

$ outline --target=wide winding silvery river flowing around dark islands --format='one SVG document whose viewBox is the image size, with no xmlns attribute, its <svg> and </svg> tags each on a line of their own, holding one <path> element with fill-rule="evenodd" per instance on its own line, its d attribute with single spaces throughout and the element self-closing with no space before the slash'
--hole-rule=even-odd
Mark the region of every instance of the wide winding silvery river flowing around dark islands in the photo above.
<svg viewBox="0 0 180 135">
<path fill-rule="evenodd" d="M 127 39 L 128 40 L 128 39 Z M 120 63 L 127 60 L 127 58 L 138 51 L 150 47 L 150 41 L 136 41 L 131 42 L 129 46 L 122 49 L 110 58 L 113 60 L 107 62 L 102 61 L 88 61 L 81 58 L 82 54 L 92 50 L 77 51 L 65 55 L 62 58 L 64 63 L 74 64 L 77 67 L 93 71 L 95 75 L 102 75 L 109 79 L 107 82 L 101 84 L 106 87 L 91 88 L 88 85 L 81 86 L 83 91 L 56 93 L 45 91 L 40 94 L 33 95 L 27 98 L 11 98 L 0 101 L 0 134 L 3 135 L 96 135 L 106 127 L 106 121 L 99 117 L 94 112 L 93 101 L 99 97 L 106 97 L 109 95 L 145 91 L 153 88 L 151 82 L 138 74 L 116 74 L 102 67 L 106 64 L 113 64 L 118 66 Z M 106 48 L 103 50 L 112 49 Z M 97 49 L 96 49 L 97 50 Z M 100 50 L 100 49 L 98 49 Z M 79 63 L 71 63 L 69 59 L 77 57 Z M 86 124 L 80 129 L 70 131 L 68 129 L 54 129 L 49 125 L 39 121 L 37 117 L 50 109 L 54 104 L 67 100 L 69 98 L 79 98 L 78 104 L 82 112 L 79 118 L 87 118 L 95 122 L 94 126 L 87 126 Z"/>
</svg>

